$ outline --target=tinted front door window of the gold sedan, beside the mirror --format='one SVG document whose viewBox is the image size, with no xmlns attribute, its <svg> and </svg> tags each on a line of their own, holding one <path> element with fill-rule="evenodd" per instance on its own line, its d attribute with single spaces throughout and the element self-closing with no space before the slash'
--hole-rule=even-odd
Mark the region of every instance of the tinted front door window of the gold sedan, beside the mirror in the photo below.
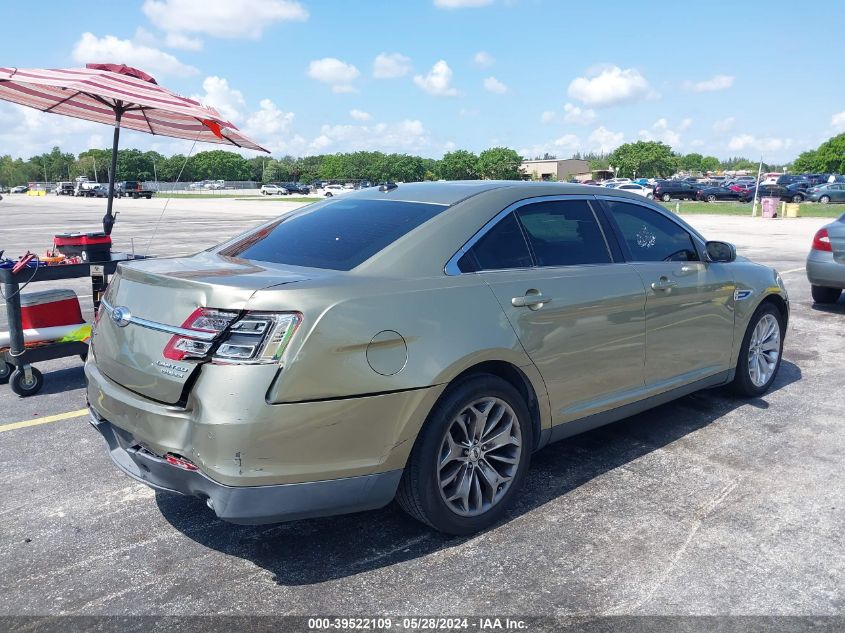
<svg viewBox="0 0 845 633">
<path fill-rule="evenodd" d="M 634 261 L 692 262 L 698 251 L 690 234 L 663 214 L 639 204 L 607 200 Z"/>
</svg>

